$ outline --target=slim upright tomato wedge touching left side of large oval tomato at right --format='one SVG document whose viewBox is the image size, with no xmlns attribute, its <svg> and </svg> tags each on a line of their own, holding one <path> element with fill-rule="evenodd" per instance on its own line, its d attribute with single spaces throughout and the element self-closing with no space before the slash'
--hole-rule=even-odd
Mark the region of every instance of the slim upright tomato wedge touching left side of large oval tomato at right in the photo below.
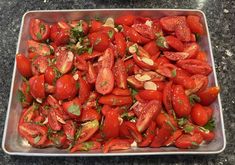
<svg viewBox="0 0 235 165">
<path fill-rule="evenodd" d="M 168 82 L 162 93 L 163 104 L 168 114 L 172 114 L 172 81 Z"/>
</svg>

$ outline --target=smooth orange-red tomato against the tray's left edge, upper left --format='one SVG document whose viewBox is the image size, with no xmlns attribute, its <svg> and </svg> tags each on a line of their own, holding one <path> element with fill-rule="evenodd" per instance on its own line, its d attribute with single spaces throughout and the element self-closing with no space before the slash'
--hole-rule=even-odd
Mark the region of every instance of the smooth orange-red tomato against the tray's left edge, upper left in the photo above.
<svg viewBox="0 0 235 165">
<path fill-rule="evenodd" d="M 17 54 L 16 62 L 17 62 L 17 69 L 22 76 L 24 77 L 32 76 L 31 62 L 27 57 L 25 57 L 23 54 Z"/>
</svg>

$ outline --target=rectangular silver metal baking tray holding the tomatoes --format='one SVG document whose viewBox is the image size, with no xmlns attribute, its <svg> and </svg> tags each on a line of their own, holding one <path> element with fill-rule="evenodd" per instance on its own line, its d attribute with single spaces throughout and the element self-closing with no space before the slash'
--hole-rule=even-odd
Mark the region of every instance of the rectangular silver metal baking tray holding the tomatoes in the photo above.
<svg viewBox="0 0 235 165">
<path fill-rule="evenodd" d="M 39 10 L 29 11 L 24 14 L 19 33 L 16 53 L 27 53 L 26 42 L 30 38 L 29 35 L 29 20 L 31 18 L 40 18 L 46 22 L 56 22 L 59 20 L 77 20 L 89 19 L 94 17 L 107 18 L 117 17 L 124 14 L 134 14 L 147 17 L 162 17 L 169 15 L 198 15 L 201 17 L 202 23 L 206 27 L 206 34 L 201 38 L 200 45 L 208 54 L 208 60 L 213 67 L 213 72 L 209 76 L 209 85 L 218 85 L 215 72 L 214 58 L 211 49 L 210 35 L 208 31 L 205 14 L 200 10 L 186 9 L 88 9 L 88 10 Z M 216 154 L 225 149 L 226 139 L 224 133 L 224 122 L 222 114 L 222 106 L 220 96 L 211 105 L 214 109 L 214 118 L 216 120 L 215 139 L 209 144 L 203 144 L 197 149 L 178 149 L 175 147 L 161 148 L 137 148 L 132 147 L 129 150 L 115 151 L 110 153 L 102 153 L 102 151 L 89 151 L 80 153 L 69 153 L 67 150 L 56 148 L 37 149 L 33 148 L 24 140 L 22 140 L 17 131 L 17 124 L 22 111 L 20 103 L 17 101 L 17 89 L 20 86 L 22 79 L 16 69 L 16 64 L 13 70 L 11 93 L 7 109 L 5 129 L 2 140 L 2 149 L 9 155 L 22 156 L 130 156 L 130 155 L 173 155 L 173 154 Z"/>
</svg>

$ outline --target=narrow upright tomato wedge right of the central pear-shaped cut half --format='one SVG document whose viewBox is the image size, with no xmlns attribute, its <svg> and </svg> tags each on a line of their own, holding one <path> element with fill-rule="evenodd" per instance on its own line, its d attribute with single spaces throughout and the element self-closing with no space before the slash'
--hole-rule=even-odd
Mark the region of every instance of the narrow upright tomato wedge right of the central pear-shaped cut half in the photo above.
<svg viewBox="0 0 235 165">
<path fill-rule="evenodd" d="M 116 80 L 116 86 L 122 89 L 127 88 L 127 72 L 125 69 L 124 61 L 118 59 L 114 66 L 114 76 Z"/>
</svg>

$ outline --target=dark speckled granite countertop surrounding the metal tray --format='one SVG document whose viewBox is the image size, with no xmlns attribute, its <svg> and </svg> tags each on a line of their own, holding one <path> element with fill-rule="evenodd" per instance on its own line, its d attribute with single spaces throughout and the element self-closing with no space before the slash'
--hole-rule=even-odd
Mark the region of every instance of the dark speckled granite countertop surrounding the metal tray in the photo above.
<svg viewBox="0 0 235 165">
<path fill-rule="evenodd" d="M 28 10 L 86 8 L 190 8 L 205 12 L 209 24 L 218 81 L 221 86 L 227 146 L 218 155 L 39 158 L 6 155 L 0 164 L 235 164 L 235 1 L 227 0 L 1 0 L 0 1 L 0 142 L 10 92 L 22 15 Z"/>
</svg>

